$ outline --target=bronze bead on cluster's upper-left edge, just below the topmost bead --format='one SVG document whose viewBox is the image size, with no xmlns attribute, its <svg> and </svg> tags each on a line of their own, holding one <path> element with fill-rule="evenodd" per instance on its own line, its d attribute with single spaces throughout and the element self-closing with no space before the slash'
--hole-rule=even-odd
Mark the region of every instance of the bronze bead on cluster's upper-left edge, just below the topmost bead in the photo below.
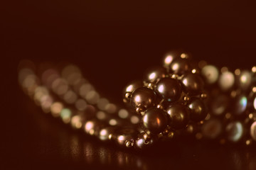
<svg viewBox="0 0 256 170">
<path fill-rule="evenodd" d="M 156 79 L 164 78 L 166 69 L 164 67 L 155 67 L 146 73 L 146 81 L 154 82 Z"/>
</svg>

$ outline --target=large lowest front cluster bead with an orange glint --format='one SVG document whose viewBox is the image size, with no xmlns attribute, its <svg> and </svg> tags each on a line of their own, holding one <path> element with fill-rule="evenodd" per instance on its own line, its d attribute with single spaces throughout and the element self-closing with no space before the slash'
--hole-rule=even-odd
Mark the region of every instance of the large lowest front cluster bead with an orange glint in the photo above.
<svg viewBox="0 0 256 170">
<path fill-rule="evenodd" d="M 159 108 L 149 108 L 142 117 L 144 128 L 153 134 L 162 132 L 169 123 L 167 113 Z"/>
</svg>

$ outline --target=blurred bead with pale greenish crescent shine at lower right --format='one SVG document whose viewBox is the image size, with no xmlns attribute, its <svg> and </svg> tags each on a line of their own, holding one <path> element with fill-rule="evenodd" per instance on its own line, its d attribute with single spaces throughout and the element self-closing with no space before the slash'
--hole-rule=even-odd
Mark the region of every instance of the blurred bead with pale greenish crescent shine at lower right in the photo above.
<svg viewBox="0 0 256 170">
<path fill-rule="evenodd" d="M 228 140 L 231 142 L 238 142 L 242 138 L 243 134 L 242 123 L 238 121 L 229 123 L 225 128 L 225 131 L 227 133 Z"/>
</svg>

